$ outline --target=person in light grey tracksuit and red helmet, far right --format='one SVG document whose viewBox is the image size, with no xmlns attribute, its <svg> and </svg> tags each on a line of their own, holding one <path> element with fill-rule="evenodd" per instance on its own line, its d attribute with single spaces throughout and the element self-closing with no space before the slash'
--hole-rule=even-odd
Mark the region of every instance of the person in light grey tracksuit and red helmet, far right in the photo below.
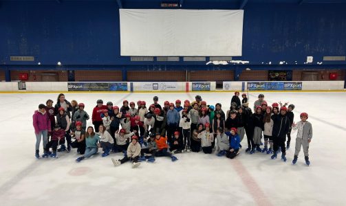
<svg viewBox="0 0 346 206">
<path fill-rule="evenodd" d="M 307 113 L 301 113 L 301 121 L 297 124 L 292 124 L 293 130 L 298 130 L 296 133 L 296 151 L 294 152 L 293 164 L 296 163 L 298 159 L 299 152 L 303 146 L 305 163 L 310 165 L 309 161 L 309 144 L 312 139 L 312 124 L 307 122 Z"/>
</svg>

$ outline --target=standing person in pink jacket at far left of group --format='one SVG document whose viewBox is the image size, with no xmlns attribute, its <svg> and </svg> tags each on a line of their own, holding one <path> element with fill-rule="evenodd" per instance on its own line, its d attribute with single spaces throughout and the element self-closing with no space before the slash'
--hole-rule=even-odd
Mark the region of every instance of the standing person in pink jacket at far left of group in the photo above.
<svg viewBox="0 0 346 206">
<path fill-rule="evenodd" d="M 32 115 L 32 124 L 34 125 L 36 135 L 35 157 L 39 159 L 41 138 L 43 139 L 43 149 L 45 149 L 47 145 L 48 132 L 52 131 L 52 128 L 50 127 L 50 117 L 45 111 L 45 104 L 39 104 L 39 110 L 36 110 L 34 115 Z"/>
</svg>

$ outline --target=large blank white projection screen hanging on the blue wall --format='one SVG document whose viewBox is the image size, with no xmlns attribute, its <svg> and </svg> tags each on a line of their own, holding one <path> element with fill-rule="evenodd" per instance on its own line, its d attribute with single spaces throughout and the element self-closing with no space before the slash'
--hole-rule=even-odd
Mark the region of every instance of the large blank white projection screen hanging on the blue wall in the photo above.
<svg viewBox="0 0 346 206">
<path fill-rule="evenodd" d="M 241 56 L 244 10 L 120 9 L 121 56 Z"/>
</svg>

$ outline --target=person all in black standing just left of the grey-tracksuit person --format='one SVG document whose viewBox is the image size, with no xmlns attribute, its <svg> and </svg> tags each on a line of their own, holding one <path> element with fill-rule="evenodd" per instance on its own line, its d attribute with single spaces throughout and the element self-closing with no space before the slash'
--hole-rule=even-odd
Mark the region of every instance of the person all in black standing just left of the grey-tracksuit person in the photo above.
<svg viewBox="0 0 346 206">
<path fill-rule="evenodd" d="M 290 130 L 290 119 L 288 119 L 287 108 L 285 106 L 281 106 L 280 114 L 273 118 L 274 125 L 272 127 L 272 138 L 274 144 L 274 154 L 272 155 L 272 159 L 277 158 L 277 150 L 281 147 L 281 159 L 286 161 L 286 148 L 285 148 L 285 140 L 288 131 Z"/>
</svg>

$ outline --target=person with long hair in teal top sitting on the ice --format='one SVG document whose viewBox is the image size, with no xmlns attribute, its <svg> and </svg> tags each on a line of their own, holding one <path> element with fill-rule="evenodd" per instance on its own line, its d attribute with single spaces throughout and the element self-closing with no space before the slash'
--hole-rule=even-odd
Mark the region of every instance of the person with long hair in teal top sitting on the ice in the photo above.
<svg viewBox="0 0 346 206">
<path fill-rule="evenodd" d="M 85 149 L 85 154 L 82 157 L 78 157 L 76 161 L 80 162 L 83 159 L 96 154 L 98 150 L 97 143 L 99 140 L 100 137 L 94 133 L 94 128 L 92 126 L 89 126 L 87 128 L 87 133 L 85 134 L 85 144 L 87 145 L 87 148 Z"/>
</svg>

